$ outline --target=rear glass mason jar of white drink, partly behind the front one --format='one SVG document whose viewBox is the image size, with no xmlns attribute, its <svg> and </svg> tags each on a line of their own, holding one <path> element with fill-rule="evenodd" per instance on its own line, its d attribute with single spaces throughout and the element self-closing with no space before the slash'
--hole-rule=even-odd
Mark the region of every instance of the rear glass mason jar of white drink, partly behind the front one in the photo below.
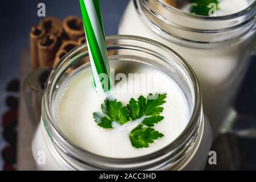
<svg viewBox="0 0 256 182">
<path fill-rule="evenodd" d="M 188 61 L 200 82 L 205 114 L 216 135 L 233 113 L 249 65 L 255 15 L 256 2 L 236 14 L 208 17 L 178 10 L 163 0 L 133 0 L 121 19 L 119 34 L 156 40 Z"/>
</svg>

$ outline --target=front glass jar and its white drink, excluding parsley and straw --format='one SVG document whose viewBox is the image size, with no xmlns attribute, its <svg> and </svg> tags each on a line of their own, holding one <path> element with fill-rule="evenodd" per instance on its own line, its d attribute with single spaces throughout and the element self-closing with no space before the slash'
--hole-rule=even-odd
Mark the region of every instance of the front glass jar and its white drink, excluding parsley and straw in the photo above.
<svg viewBox="0 0 256 182">
<path fill-rule="evenodd" d="M 172 49 L 146 38 L 109 36 L 106 41 L 109 64 L 116 73 L 156 74 L 161 83 L 159 93 L 167 95 L 162 105 L 164 119 L 154 127 L 164 137 L 148 148 L 134 148 L 126 135 L 129 126 L 112 130 L 97 126 L 92 111 L 100 108 L 103 100 L 93 88 L 84 44 L 64 56 L 46 82 L 42 117 L 32 139 L 38 169 L 204 169 L 212 131 L 204 118 L 200 87 L 189 64 Z M 116 96 L 124 102 L 131 93 Z"/>
</svg>

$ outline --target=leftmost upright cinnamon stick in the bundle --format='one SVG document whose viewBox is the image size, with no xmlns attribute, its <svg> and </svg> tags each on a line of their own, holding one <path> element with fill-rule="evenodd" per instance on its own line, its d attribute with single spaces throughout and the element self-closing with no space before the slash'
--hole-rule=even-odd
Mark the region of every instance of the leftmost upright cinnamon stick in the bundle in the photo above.
<svg viewBox="0 0 256 182">
<path fill-rule="evenodd" d="M 38 42 L 43 38 L 46 32 L 44 29 L 33 26 L 30 32 L 30 56 L 31 56 L 31 69 L 35 69 L 39 66 L 38 61 Z"/>
</svg>

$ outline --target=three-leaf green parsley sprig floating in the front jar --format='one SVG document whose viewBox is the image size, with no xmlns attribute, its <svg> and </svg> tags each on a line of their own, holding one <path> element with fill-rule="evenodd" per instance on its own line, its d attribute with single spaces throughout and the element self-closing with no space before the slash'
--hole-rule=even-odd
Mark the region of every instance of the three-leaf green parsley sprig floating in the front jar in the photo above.
<svg viewBox="0 0 256 182">
<path fill-rule="evenodd" d="M 155 99 L 149 99 L 155 98 Z M 112 122 L 124 125 L 129 121 L 135 121 L 145 117 L 143 121 L 129 134 L 131 144 L 135 148 L 149 147 L 154 140 L 164 137 L 159 131 L 152 127 L 162 121 L 164 117 L 160 115 L 164 110 L 161 107 L 165 103 L 166 94 L 149 94 L 147 98 L 140 96 L 137 101 L 131 98 L 127 106 L 123 106 L 117 100 L 104 100 L 101 104 L 102 113 L 94 113 L 94 119 L 98 126 L 104 129 L 112 129 Z"/>
</svg>

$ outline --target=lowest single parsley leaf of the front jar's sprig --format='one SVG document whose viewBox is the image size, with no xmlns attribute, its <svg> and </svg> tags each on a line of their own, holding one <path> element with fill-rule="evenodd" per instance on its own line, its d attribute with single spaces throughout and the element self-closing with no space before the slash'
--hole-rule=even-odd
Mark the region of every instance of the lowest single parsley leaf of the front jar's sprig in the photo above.
<svg viewBox="0 0 256 182">
<path fill-rule="evenodd" d="M 143 127 L 143 124 L 138 125 L 129 135 L 132 146 L 135 148 L 149 147 L 149 143 L 154 140 L 164 137 L 159 131 L 155 131 L 151 127 Z"/>
</svg>

